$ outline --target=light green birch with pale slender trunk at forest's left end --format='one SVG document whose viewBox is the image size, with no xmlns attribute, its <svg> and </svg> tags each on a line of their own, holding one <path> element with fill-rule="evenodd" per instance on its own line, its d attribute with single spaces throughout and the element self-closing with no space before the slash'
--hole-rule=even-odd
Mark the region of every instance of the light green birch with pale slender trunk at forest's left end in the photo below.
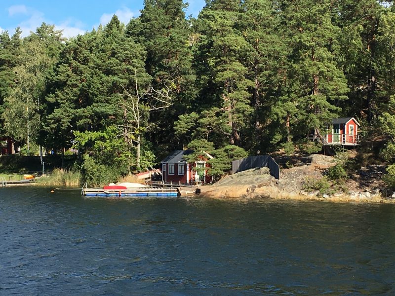
<svg viewBox="0 0 395 296">
<path fill-rule="evenodd" d="M 7 133 L 26 143 L 28 150 L 31 141 L 38 142 L 45 75 L 57 61 L 62 40 L 53 25 L 42 23 L 21 42 L 19 61 L 13 68 L 16 86 L 6 98 L 3 120 Z"/>
</svg>

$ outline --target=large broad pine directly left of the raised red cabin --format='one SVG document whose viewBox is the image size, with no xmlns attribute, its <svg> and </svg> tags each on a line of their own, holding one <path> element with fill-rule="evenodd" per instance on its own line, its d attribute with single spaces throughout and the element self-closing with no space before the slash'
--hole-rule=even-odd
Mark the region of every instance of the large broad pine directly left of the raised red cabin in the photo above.
<svg viewBox="0 0 395 296">
<path fill-rule="evenodd" d="M 340 30 L 332 23 L 333 1 L 282 1 L 283 24 L 288 28 L 291 65 L 287 70 L 287 101 L 298 112 L 287 125 L 294 136 L 305 137 L 310 130 L 321 137 L 321 128 L 340 110 L 346 100 L 347 84 L 336 56 Z M 293 109 L 291 107 L 290 109 Z M 289 123 L 288 123 L 289 122 Z"/>
</svg>

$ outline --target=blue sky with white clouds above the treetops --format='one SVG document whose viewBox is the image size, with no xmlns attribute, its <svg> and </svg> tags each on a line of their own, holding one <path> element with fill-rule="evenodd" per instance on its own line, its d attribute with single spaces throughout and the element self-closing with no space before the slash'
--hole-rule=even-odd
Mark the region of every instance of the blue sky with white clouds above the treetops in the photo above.
<svg viewBox="0 0 395 296">
<path fill-rule="evenodd" d="M 197 17 L 204 0 L 188 2 L 186 14 Z M 8 30 L 12 35 L 19 26 L 22 36 L 27 36 L 45 22 L 72 37 L 107 24 L 114 14 L 127 24 L 142 8 L 143 0 L 0 0 L 0 32 Z"/>
</svg>

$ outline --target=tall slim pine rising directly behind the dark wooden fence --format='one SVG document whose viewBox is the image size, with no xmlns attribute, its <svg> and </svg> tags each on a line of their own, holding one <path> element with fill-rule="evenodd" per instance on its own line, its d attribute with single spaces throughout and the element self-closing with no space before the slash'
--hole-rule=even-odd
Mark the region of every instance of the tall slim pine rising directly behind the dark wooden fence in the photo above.
<svg viewBox="0 0 395 296">
<path fill-rule="evenodd" d="M 259 152 L 268 147 L 266 142 L 273 137 L 273 133 L 265 137 L 265 132 L 271 123 L 268 118 L 273 118 L 273 106 L 281 96 L 287 66 L 286 40 L 279 23 L 276 1 L 244 0 L 241 7 L 243 13 L 240 13 L 237 27 L 249 45 L 245 67 L 249 79 L 254 82 L 249 91 L 252 92 L 254 107 L 253 129 L 250 129 L 252 137 L 245 141 L 245 146 Z M 276 124 L 287 125 L 287 118 L 294 114 L 294 110 L 289 110 L 284 104 L 278 105 L 284 114 L 278 116 L 280 120 Z"/>
</svg>

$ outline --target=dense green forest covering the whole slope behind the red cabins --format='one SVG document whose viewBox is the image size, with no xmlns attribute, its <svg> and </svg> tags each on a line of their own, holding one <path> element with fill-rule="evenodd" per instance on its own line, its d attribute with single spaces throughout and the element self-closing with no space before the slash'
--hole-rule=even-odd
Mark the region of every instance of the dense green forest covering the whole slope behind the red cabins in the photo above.
<svg viewBox="0 0 395 296">
<path fill-rule="evenodd" d="M 319 150 L 308 136 L 353 116 L 394 162 L 392 1 L 206 0 L 197 19 L 186 7 L 145 0 L 127 25 L 70 39 L 45 23 L 3 32 L 0 134 L 25 153 L 78 149 L 82 171 L 111 176 L 194 148 L 220 175 L 220 159 Z"/>
</svg>

